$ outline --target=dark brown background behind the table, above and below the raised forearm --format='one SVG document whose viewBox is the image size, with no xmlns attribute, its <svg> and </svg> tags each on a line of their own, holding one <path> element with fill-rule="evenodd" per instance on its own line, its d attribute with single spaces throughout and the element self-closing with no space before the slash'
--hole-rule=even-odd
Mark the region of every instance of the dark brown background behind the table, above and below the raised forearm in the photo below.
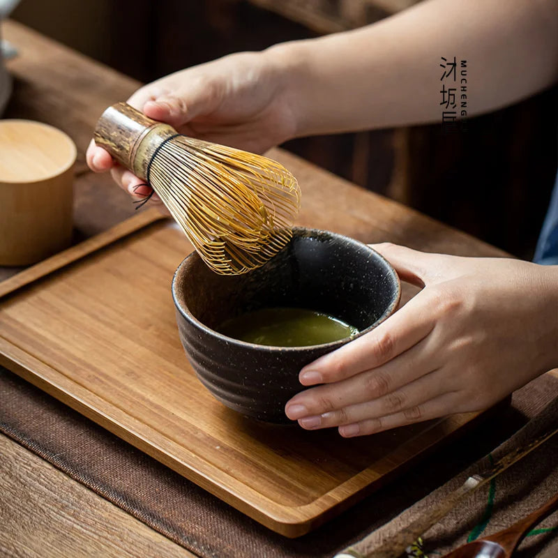
<svg viewBox="0 0 558 558">
<path fill-rule="evenodd" d="M 13 17 L 149 82 L 229 52 L 359 27 L 416 0 L 23 0 Z M 520 76 L 518 76 L 520 79 Z M 285 147 L 530 258 L 556 176 L 557 89 L 469 120 L 303 138 Z"/>
</svg>

